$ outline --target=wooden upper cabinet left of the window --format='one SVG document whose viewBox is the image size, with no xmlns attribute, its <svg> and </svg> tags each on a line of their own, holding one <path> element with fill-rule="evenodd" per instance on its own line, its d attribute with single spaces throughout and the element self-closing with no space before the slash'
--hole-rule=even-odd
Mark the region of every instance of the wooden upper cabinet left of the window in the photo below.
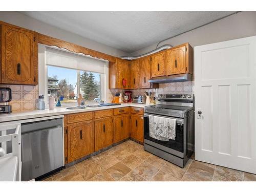
<svg viewBox="0 0 256 192">
<path fill-rule="evenodd" d="M 37 84 L 37 33 L 1 25 L 1 83 Z"/>
</svg>

